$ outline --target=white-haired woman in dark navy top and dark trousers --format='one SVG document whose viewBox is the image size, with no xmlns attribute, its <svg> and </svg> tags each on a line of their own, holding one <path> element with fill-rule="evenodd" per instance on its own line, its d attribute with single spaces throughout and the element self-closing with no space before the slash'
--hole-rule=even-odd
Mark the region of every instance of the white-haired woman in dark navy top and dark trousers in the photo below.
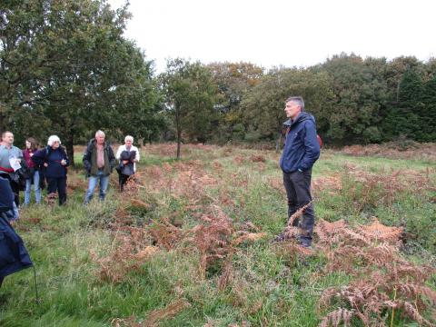
<svg viewBox="0 0 436 327">
<path fill-rule="evenodd" d="M 70 163 L 65 149 L 61 146 L 61 140 L 56 135 L 48 138 L 47 146 L 37 151 L 32 160 L 42 167 L 47 180 L 47 192 L 53 196 L 59 195 L 59 204 L 66 202 L 66 167 Z"/>
</svg>

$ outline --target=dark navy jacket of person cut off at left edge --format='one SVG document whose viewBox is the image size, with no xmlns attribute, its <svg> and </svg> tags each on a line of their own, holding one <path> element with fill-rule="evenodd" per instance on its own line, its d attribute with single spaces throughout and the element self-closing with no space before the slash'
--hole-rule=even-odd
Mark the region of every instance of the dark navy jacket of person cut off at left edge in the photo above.
<svg viewBox="0 0 436 327">
<path fill-rule="evenodd" d="M 13 202 L 14 193 L 9 182 L 0 177 L 0 281 L 13 272 L 33 265 L 23 240 L 5 217 L 5 212 L 12 209 Z"/>
</svg>

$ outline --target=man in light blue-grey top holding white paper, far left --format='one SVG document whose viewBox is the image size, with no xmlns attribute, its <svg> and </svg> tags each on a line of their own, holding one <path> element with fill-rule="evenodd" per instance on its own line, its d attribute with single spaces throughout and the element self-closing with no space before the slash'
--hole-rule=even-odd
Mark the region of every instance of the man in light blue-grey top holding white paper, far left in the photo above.
<svg viewBox="0 0 436 327">
<path fill-rule="evenodd" d="M 20 164 L 23 159 L 23 152 L 14 146 L 14 134 L 9 131 L 2 133 L 2 144 L 0 145 L 0 170 L 8 173 L 9 183 L 14 192 L 14 202 L 18 207 L 20 204 L 20 185 L 19 176 L 11 163 Z"/>
</svg>

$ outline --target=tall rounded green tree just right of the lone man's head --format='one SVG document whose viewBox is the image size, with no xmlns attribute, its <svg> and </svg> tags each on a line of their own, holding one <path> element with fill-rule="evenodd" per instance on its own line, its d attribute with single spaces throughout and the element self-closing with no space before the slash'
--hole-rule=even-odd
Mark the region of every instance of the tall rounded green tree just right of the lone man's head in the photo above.
<svg viewBox="0 0 436 327">
<path fill-rule="evenodd" d="M 387 85 L 379 64 L 340 54 L 322 69 L 330 76 L 334 94 L 328 137 L 340 144 L 381 141 L 380 113 L 387 102 Z"/>
</svg>

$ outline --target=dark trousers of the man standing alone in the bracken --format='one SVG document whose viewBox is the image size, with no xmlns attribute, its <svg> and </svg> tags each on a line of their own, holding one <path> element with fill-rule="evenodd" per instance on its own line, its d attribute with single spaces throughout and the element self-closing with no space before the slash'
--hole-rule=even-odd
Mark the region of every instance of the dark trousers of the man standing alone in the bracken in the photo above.
<svg viewBox="0 0 436 327">
<path fill-rule="evenodd" d="M 312 201 L 311 194 L 312 169 L 305 172 L 283 173 L 283 184 L 288 197 L 288 219 L 302 206 Z M 312 243 L 313 224 L 315 213 L 313 204 L 309 205 L 302 213 L 302 219 L 295 219 L 292 223 L 301 228 L 300 239 L 305 243 Z"/>
</svg>

